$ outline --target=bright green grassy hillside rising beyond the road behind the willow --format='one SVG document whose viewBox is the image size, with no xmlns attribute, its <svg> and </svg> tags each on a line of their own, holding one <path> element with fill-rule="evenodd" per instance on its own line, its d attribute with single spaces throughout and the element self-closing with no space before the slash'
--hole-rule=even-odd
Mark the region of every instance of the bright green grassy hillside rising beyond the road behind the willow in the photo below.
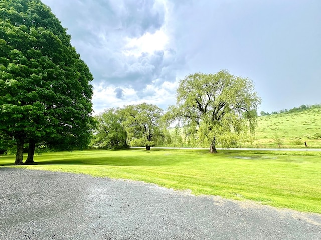
<svg viewBox="0 0 321 240">
<path fill-rule="evenodd" d="M 251 147 L 321 148 L 321 107 L 260 116 Z"/>
</svg>

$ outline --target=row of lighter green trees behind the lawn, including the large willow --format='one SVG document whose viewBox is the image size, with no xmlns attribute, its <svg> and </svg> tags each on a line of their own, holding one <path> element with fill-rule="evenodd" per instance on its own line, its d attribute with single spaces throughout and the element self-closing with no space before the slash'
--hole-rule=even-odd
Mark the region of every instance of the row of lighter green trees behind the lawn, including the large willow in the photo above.
<svg viewBox="0 0 321 240">
<path fill-rule="evenodd" d="M 142 103 L 111 108 L 96 117 L 92 145 L 106 148 L 190 143 L 230 147 L 253 139 L 260 98 L 253 82 L 226 70 L 195 73 L 179 82 L 177 104 L 164 112 Z M 176 125 L 170 132 L 169 127 Z"/>
</svg>

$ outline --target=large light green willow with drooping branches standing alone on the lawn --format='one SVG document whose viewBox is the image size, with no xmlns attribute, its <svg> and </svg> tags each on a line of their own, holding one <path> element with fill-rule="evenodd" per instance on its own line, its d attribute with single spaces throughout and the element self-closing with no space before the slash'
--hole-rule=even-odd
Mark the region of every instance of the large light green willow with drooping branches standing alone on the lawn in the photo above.
<svg viewBox="0 0 321 240">
<path fill-rule="evenodd" d="M 230 147 L 254 134 L 260 102 L 251 80 L 221 70 L 215 74 L 195 73 L 180 80 L 177 104 L 170 106 L 169 112 L 172 119 L 190 128 L 189 132 L 197 132 L 211 152 L 217 152 L 217 142 Z"/>
</svg>

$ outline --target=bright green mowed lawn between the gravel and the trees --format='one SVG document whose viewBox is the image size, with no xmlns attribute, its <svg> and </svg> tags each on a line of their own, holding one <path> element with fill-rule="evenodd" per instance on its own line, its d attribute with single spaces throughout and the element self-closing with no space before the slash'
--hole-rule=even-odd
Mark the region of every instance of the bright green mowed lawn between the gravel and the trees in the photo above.
<svg viewBox="0 0 321 240">
<path fill-rule="evenodd" d="M 12 165 L 14 158 L 2 156 L 0 165 Z M 88 150 L 35 155 L 35 161 L 14 167 L 132 179 L 321 213 L 321 152 L 316 151 Z"/>
</svg>

